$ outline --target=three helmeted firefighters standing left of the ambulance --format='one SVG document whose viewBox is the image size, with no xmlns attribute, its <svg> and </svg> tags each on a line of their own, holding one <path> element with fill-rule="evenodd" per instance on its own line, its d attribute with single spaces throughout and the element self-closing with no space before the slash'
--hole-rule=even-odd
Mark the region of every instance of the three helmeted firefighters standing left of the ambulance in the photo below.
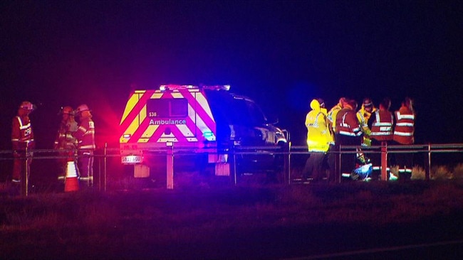
<svg viewBox="0 0 463 260">
<path fill-rule="evenodd" d="M 31 102 L 20 104 L 18 114 L 13 119 L 11 127 L 11 143 L 14 154 L 12 183 L 21 183 L 21 176 L 30 173 L 35 141 L 29 114 L 36 109 Z M 61 173 L 58 179 L 66 178 L 68 161 L 77 163 L 77 173 L 80 183 L 93 185 L 93 152 L 95 151 L 95 125 L 92 114 L 86 104 L 81 104 L 76 110 L 72 107 L 62 107 L 61 123 L 53 148 L 60 154 Z M 77 119 L 77 120 L 76 120 Z"/>
</svg>

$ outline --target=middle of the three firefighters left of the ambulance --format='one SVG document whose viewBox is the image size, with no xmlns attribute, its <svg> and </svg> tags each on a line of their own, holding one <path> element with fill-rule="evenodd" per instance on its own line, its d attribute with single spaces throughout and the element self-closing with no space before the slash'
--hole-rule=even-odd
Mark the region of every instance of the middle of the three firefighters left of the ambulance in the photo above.
<svg viewBox="0 0 463 260">
<path fill-rule="evenodd" d="M 77 139 L 72 135 L 77 131 L 78 125 L 74 119 L 74 111 L 72 107 L 61 107 L 61 122 L 58 126 L 53 148 L 59 151 L 61 158 L 58 159 L 61 171 L 58 175 L 58 180 L 64 180 L 66 177 L 66 168 L 68 161 L 76 160 L 75 150 L 77 149 Z"/>
</svg>

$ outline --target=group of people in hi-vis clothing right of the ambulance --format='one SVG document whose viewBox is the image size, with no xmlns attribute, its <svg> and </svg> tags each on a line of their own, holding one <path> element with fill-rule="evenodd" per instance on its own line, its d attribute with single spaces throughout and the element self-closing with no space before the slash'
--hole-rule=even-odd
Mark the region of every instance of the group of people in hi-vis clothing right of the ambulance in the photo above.
<svg viewBox="0 0 463 260">
<path fill-rule="evenodd" d="M 313 182 L 318 182 L 327 177 L 328 182 L 336 183 L 340 181 L 340 173 L 353 173 L 359 158 L 365 163 L 361 147 L 415 143 L 412 99 L 406 97 L 394 114 L 390 112 L 390 106 L 389 98 L 383 99 L 378 108 L 370 98 L 365 98 L 357 110 L 358 104 L 354 99 L 341 97 L 338 104 L 327 111 L 323 99 L 313 99 L 305 121 L 309 157 L 303 169 L 303 180 L 311 176 Z M 341 155 L 341 146 L 358 146 L 358 153 Z M 369 156 L 373 173 L 368 178 L 379 178 L 380 153 L 370 153 Z M 412 153 L 395 153 L 394 163 L 399 168 L 399 176 L 389 173 L 390 179 L 410 179 Z"/>
</svg>

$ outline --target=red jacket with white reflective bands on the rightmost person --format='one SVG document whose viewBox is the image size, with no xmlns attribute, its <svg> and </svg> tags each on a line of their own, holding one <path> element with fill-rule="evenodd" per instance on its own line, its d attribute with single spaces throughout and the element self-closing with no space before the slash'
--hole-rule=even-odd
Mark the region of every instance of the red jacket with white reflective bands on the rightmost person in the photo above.
<svg viewBox="0 0 463 260">
<path fill-rule="evenodd" d="M 402 144 L 415 143 L 413 132 L 415 131 L 415 113 L 408 107 L 402 106 L 395 112 L 394 141 Z"/>
</svg>

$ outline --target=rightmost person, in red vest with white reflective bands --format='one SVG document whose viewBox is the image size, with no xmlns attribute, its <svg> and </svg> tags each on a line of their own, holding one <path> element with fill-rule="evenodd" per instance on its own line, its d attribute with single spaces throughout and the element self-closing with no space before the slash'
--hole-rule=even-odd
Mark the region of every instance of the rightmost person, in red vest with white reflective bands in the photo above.
<svg viewBox="0 0 463 260">
<path fill-rule="evenodd" d="M 413 101 L 406 97 L 402 106 L 395 112 L 395 127 L 392 140 L 397 145 L 411 145 L 415 143 L 415 111 Z M 399 179 L 410 180 L 413 167 L 413 153 L 396 153 L 395 163 L 399 166 Z"/>
</svg>

